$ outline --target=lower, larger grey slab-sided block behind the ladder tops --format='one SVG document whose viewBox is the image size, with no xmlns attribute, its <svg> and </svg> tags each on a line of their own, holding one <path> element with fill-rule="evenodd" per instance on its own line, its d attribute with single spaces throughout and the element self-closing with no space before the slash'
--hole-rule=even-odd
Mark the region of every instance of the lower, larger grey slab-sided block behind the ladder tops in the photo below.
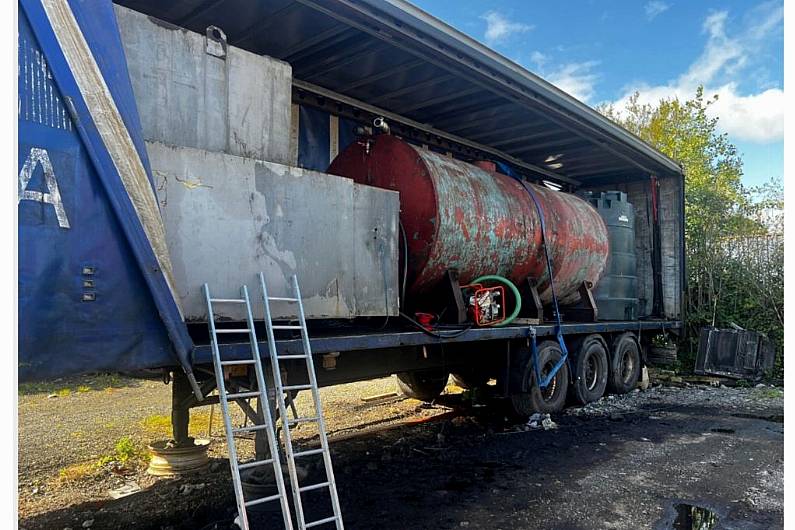
<svg viewBox="0 0 795 530">
<path fill-rule="evenodd" d="M 259 271 L 272 296 L 289 295 L 297 273 L 308 318 L 397 315 L 396 192 L 201 149 L 147 142 L 147 151 L 189 321 L 206 318 L 205 282 L 224 298 L 248 285 L 262 318 Z M 286 304 L 273 309 L 294 314 Z"/>
</svg>

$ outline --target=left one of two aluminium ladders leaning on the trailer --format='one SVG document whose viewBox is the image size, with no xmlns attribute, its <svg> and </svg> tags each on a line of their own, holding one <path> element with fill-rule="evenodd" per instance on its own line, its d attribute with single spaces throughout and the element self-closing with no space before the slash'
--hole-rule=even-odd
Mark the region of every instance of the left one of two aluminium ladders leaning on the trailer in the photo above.
<svg viewBox="0 0 795 530">
<path fill-rule="evenodd" d="M 232 468 L 232 482 L 235 489 L 235 499 L 237 502 L 237 510 L 240 515 L 240 526 L 242 530 L 249 530 L 248 515 L 246 508 L 265 502 L 278 500 L 281 504 L 282 517 L 284 518 L 284 527 L 287 530 L 292 530 L 293 524 L 290 519 L 290 507 L 287 502 L 287 492 L 284 485 L 284 477 L 282 476 L 282 467 L 279 460 L 279 445 L 276 436 L 273 432 L 273 423 L 271 421 L 270 405 L 268 401 L 268 392 L 265 385 L 265 374 L 262 370 L 262 362 L 259 355 L 259 346 L 257 345 L 257 335 L 254 332 L 254 318 L 251 314 L 251 303 L 248 298 L 248 289 L 246 286 L 240 288 L 241 298 L 212 298 L 210 296 L 210 288 L 204 284 L 204 297 L 207 301 L 207 323 L 210 328 L 210 339 L 212 340 L 212 353 L 213 364 L 215 365 L 215 379 L 218 386 L 219 402 L 221 403 L 221 411 L 224 417 L 224 426 L 226 427 L 226 443 L 229 447 L 229 465 Z M 246 308 L 246 322 L 247 328 L 235 329 L 217 329 L 215 327 L 215 313 L 213 312 L 213 304 L 241 304 Z M 251 359 L 222 361 L 221 353 L 218 347 L 218 335 L 222 333 L 231 334 L 248 334 L 251 341 Z M 224 383 L 224 367 L 232 365 L 254 365 L 257 376 L 257 391 L 253 392 L 238 392 L 228 393 Z M 254 422 L 252 425 L 243 426 L 239 428 L 232 427 L 232 419 L 229 415 L 229 400 L 245 399 L 256 397 L 260 402 L 260 409 L 262 409 L 263 423 Z M 234 435 L 239 432 L 251 432 L 265 430 L 268 435 L 268 448 L 270 450 L 270 458 L 264 460 L 254 460 L 252 462 L 239 463 L 237 461 L 237 447 L 235 445 Z M 271 464 L 273 466 L 273 473 L 276 479 L 277 493 L 267 497 L 260 497 L 257 499 L 246 500 L 243 495 L 243 485 L 240 479 L 240 471 L 258 466 L 265 466 Z"/>
</svg>

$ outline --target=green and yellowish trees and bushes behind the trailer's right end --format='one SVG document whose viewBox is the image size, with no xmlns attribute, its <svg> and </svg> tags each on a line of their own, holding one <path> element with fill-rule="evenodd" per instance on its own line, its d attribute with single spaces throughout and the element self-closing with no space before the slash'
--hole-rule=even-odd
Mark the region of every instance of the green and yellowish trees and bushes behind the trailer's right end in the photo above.
<svg viewBox="0 0 795 530">
<path fill-rule="evenodd" d="M 783 186 L 777 180 L 754 189 L 743 186 L 742 157 L 719 132 L 718 118 L 710 116 L 716 100 L 699 88 L 684 102 L 641 104 L 635 94 L 624 109 L 599 110 L 684 168 L 688 327 L 680 351 L 685 366 L 693 366 L 702 327 L 734 323 L 773 340 L 780 374 Z"/>
</svg>

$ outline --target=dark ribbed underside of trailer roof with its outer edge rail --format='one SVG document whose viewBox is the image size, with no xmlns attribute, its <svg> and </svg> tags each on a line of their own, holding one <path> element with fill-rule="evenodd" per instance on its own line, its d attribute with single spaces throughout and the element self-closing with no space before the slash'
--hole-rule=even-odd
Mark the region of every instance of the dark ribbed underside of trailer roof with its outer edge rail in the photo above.
<svg viewBox="0 0 795 530">
<path fill-rule="evenodd" d="M 682 175 L 596 110 L 403 0 L 118 3 L 200 33 L 219 26 L 231 45 L 289 62 L 294 91 L 383 110 L 471 156 L 480 148 L 575 186 Z"/>
</svg>

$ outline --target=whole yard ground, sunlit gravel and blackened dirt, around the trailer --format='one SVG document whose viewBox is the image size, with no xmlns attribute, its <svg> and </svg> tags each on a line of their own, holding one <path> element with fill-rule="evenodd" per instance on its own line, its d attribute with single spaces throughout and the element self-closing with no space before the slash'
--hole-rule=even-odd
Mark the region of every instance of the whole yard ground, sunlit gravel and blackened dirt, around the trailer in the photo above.
<svg viewBox="0 0 795 530">
<path fill-rule="evenodd" d="M 780 389 L 657 386 L 568 408 L 552 430 L 525 430 L 500 400 L 473 406 L 455 387 L 432 407 L 362 400 L 394 389 L 386 378 L 322 390 L 348 528 L 672 528 L 677 503 L 712 510 L 722 528 L 783 527 Z M 217 409 L 208 469 L 145 473 L 169 404 L 163 383 L 118 376 L 20 388 L 20 528 L 232 528 Z M 205 437 L 207 409 L 192 417 Z M 249 440 L 239 447 L 253 453 Z M 319 466 L 307 469 L 305 484 L 320 481 Z M 130 483 L 141 491 L 110 498 Z M 310 519 L 329 514 L 325 493 L 304 499 Z M 251 520 L 281 527 L 268 511 Z"/>
</svg>

